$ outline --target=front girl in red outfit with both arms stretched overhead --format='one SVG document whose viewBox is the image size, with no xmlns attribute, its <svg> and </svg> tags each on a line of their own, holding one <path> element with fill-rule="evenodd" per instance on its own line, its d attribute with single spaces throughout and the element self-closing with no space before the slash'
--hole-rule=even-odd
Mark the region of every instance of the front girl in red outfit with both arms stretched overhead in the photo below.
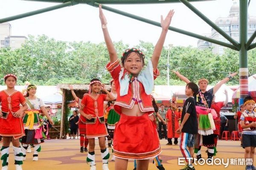
<svg viewBox="0 0 256 170">
<path fill-rule="evenodd" d="M 161 153 L 160 142 L 156 140 L 157 130 L 148 114 L 154 112 L 150 94 L 153 90 L 154 79 L 159 75 L 157 64 L 173 14 L 172 10 L 169 11 L 165 20 L 161 17 L 160 38 L 151 60 L 148 61 L 147 68 L 142 71 L 145 56 L 136 48 L 124 51 L 121 59 L 123 68 L 121 68 L 108 33 L 107 20 L 101 5 L 99 6 L 99 18 L 110 55 L 107 69 L 114 79 L 117 92 L 114 109 L 120 114 L 113 139 L 116 170 L 126 170 L 128 159 L 137 159 L 137 168 L 147 170 L 149 159 Z"/>
</svg>

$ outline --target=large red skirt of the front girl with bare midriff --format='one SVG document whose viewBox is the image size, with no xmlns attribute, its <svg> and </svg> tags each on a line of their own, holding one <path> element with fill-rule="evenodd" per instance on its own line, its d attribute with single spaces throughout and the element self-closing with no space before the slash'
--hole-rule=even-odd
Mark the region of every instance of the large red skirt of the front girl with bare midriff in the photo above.
<svg viewBox="0 0 256 170">
<path fill-rule="evenodd" d="M 120 159 L 151 159 L 161 153 L 157 129 L 143 116 L 121 114 L 113 139 L 113 154 Z"/>
</svg>

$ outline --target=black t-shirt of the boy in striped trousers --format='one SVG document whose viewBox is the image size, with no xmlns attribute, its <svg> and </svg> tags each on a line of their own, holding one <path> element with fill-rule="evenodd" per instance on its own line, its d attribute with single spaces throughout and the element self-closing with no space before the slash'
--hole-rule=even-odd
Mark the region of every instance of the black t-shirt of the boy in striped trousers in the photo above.
<svg viewBox="0 0 256 170">
<path fill-rule="evenodd" d="M 193 97 L 187 98 L 183 105 L 181 122 L 186 113 L 189 113 L 190 115 L 181 131 L 183 133 L 198 134 L 198 119 L 195 111 L 195 99 Z"/>
</svg>

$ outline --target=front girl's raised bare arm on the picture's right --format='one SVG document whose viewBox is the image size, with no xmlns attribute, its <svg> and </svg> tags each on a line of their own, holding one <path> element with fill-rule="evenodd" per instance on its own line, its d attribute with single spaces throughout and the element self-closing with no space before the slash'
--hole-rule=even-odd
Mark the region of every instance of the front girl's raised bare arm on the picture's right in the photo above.
<svg viewBox="0 0 256 170">
<path fill-rule="evenodd" d="M 161 55 L 161 52 L 163 49 L 163 43 L 166 39 L 166 34 L 167 34 L 168 28 L 170 26 L 170 23 L 172 21 L 173 14 L 174 14 L 174 11 L 170 10 L 164 20 L 163 20 L 163 15 L 161 15 L 162 32 L 160 34 L 160 37 L 159 37 L 157 44 L 154 48 L 153 55 L 151 57 L 151 62 L 152 62 L 154 70 L 157 69 L 157 64 L 158 64 L 158 61 L 159 61 L 159 58 L 160 58 L 160 55 Z"/>
</svg>

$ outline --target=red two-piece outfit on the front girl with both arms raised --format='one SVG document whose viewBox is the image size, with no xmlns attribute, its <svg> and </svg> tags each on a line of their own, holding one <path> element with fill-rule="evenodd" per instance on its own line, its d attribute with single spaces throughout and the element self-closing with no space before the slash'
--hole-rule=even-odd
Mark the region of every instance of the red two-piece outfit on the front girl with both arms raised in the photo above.
<svg viewBox="0 0 256 170">
<path fill-rule="evenodd" d="M 154 122 L 148 114 L 154 112 L 151 96 L 145 93 L 143 84 L 134 78 L 129 82 L 128 94 L 120 96 L 119 73 L 121 65 L 118 60 L 108 63 L 108 71 L 114 79 L 117 98 L 114 104 L 116 113 L 120 114 L 120 120 L 116 124 L 113 138 L 113 154 L 119 159 L 151 159 L 161 153 L 160 141 Z M 156 70 L 154 78 L 157 77 Z M 128 116 L 122 114 L 121 109 L 133 108 L 139 105 L 142 116 Z M 148 113 L 148 114 L 147 114 Z"/>
</svg>

